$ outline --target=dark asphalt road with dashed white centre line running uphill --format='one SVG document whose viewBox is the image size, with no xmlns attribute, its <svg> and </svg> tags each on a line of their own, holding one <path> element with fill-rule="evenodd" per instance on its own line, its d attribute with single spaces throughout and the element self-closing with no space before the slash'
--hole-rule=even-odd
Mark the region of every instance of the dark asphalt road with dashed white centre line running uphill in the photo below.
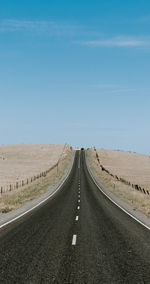
<svg viewBox="0 0 150 284">
<path fill-rule="evenodd" d="M 100 192 L 77 151 L 62 188 L 0 230 L 0 283 L 150 283 L 150 231 Z"/>
</svg>

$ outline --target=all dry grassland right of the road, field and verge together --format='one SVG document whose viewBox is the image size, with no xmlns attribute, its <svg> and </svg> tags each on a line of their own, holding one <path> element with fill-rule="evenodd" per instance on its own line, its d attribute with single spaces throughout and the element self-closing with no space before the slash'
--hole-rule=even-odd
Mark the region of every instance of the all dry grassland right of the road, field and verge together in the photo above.
<svg viewBox="0 0 150 284">
<path fill-rule="evenodd" d="M 110 173 L 145 189 L 150 189 L 150 157 L 148 155 L 104 149 L 96 149 L 96 152 L 100 164 Z M 139 209 L 150 217 L 150 195 L 145 195 L 102 171 L 96 158 L 96 152 L 94 149 L 87 151 L 91 170 L 111 192 L 131 204 L 135 210 Z"/>
</svg>

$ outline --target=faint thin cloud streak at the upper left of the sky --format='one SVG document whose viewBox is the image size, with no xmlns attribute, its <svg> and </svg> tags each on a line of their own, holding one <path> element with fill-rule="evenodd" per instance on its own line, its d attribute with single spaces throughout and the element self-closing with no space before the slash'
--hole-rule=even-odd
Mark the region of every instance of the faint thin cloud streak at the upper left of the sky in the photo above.
<svg viewBox="0 0 150 284">
<path fill-rule="evenodd" d="M 47 32 L 51 35 L 71 35 L 77 33 L 81 27 L 78 25 L 67 25 L 54 21 L 26 21 L 26 20 L 1 20 L 0 32 L 34 31 Z"/>
</svg>

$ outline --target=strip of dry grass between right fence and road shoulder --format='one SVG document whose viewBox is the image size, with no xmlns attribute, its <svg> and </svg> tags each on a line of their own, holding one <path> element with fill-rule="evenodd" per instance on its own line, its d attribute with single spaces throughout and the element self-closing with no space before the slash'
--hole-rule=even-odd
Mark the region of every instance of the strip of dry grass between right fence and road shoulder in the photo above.
<svg viewBox="0 0 150 284">
<path fill-rule="evenodd" d="M 113 194 L 120 197 L 123 201 L 133 206 L 134 210 L 140 210 L 145 215 L 150 217 L 150 196 L 143 194 L 131 186 L 128 186 L 121 181 L 117 181 L 108 173 L 104 172 L 95 155 L 94 149 L 87 150 L 87 161 L 91 171 Z"/>
</svg>

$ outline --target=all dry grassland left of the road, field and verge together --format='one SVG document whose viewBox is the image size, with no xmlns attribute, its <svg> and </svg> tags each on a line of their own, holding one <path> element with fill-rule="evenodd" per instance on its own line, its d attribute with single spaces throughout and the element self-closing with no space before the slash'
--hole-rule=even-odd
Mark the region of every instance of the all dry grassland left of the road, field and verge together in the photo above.
<svg viewBox="0 0 150 284">
<path fill-rule="evenodd" d="M 72 151 L 66 145 L 9 145 L 0 146 L 0 186 L 5 192 L 0 194 L 0 212 L 19 208 L 26 201 L 46 192 L 47 187 L 56 184 L 63 176 L 72 159 Z M 9 190 L 9 184 L 21 185 L 22 180 L 47 171 L 59 160 L 46 176 L 41 176 L 29 184 Z"/>
</svg>

